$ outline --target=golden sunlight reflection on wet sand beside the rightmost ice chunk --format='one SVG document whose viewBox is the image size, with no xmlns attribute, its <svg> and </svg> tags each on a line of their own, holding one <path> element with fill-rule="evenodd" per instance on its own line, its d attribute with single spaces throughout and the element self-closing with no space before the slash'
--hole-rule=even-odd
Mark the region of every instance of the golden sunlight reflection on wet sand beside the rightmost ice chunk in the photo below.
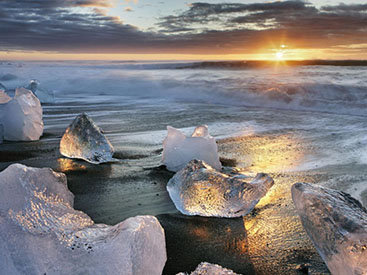
<svg viewBox="0 0 367 275">
<path fill-rule="evenodd" d="M 317 181 L 316 174 L 297 169 L 309 153 L 309 144 L 293 133 L 272 133 L 227 139 L 219 148 L 226 158 L 236 159 L 241 173 L 269 173 L 275 182 L 252 213 L 243 218 L 247 238 L 242 249 L 255 273 L 293 274 L 302 263 L 326 271 L 302 228 L 290 194 L 295 182 Z"/>
</svg>

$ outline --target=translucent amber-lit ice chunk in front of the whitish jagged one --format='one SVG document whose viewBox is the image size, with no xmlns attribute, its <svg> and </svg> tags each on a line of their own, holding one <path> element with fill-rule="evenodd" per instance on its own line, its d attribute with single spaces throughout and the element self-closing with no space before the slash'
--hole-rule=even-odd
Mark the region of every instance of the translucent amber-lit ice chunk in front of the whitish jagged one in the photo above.
<svg viewBox="0 0 367 275">
<path fill-rule="evenodd" d="M 183 214 L 240 217 L 248 214 L 274 183 L 266 174 L 248 181 L 243 175 L 229 176 L 201 160 L 192 160 L 169 180 L 167 190 Z"/>
</svg>

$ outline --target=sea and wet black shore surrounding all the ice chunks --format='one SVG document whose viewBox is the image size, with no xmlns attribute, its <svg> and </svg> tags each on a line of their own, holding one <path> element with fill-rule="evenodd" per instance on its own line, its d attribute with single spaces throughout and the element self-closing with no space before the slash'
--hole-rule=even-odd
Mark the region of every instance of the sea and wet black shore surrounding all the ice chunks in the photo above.
<svg viewBox="0 0 367 275">
<path fill-rule="evenodd" d="M 290 198 L 307 181 L 350 193 L 367 205 L 367 67 L 230 67 L 200 62 L 0 62 L 8 89 L 37 79 L 53 90 L 43 105 L 44 136 L 0 145 L 11 163 L 67 174 L 75 208 L 116 224 L 150 214 L 166 231 L 165 274 L 209 261 L 247 274 L 327 274 Z M 224 65 L 223 65 L 224 64 Z M 61 157 L 58 143 L 86 112 L 107 135 L 119 163 L 91 165 Z M 161 167 L 168 125 L 189 134 L 207 124 L 232 169 L 269 173 L 274 186 L 243 219 L 185 217 L 170 201 Z"/>
</svg>

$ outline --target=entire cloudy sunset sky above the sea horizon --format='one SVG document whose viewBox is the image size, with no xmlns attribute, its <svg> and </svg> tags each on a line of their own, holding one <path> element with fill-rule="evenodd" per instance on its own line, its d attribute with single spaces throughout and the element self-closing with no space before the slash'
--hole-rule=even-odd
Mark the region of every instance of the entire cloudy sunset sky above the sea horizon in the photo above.
<svg viewBox="0 0 367 275">
<path fill-rule="evenodd" d="M 0 0 L 9 59 L 367 59 L 367 0 Z"/>
</svg>

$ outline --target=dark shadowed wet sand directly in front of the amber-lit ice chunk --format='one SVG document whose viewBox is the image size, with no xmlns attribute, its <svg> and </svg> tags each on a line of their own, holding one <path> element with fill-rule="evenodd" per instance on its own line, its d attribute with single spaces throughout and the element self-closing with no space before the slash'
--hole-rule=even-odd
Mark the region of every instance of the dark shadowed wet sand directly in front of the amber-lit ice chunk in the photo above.
<svg viewBox="0 0 367 275">
<path fill-rule="evenodd" d="M 164 274 L 194 270 L 202 261 L 225 264 L 238 273 L 254 274 L 242 218 L 163 214 L 158 219 L 165 230 L 169 255 Z"/>
</svg>

